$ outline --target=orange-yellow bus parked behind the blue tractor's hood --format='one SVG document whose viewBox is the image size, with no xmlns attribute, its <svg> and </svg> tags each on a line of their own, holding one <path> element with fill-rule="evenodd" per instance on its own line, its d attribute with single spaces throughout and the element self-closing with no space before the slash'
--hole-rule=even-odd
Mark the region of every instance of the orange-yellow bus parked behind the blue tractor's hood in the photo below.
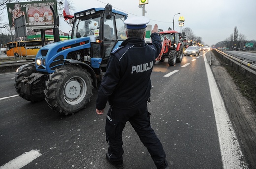
<svg viewBox="0 0 256 169">
<path fill-rule="evenodd" d="M 51 40 L 46 40 L 45 44 L 50 43 Z M 6 44 L 7 56 L 30 56 L 36 55 L 40 48 L 42 48 L 41 40 L 34 41 L 20 41 L 20 42 L 9 42 Z"/>
</svg>

